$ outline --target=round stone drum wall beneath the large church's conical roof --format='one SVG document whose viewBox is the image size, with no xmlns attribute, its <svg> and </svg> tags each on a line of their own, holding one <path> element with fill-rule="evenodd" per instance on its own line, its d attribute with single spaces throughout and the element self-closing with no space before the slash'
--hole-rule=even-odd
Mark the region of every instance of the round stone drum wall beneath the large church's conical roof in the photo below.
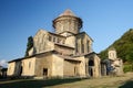
<svg viewBox="0 0 133 88">
<path fill-rule="evenodd" d="M 53 21 L 53 26 L 58 34 L 64 31 L 76 34 L 82 28 L 82 21 L 80 18 L 75 16 L 60 16 Z"/>
</svg>

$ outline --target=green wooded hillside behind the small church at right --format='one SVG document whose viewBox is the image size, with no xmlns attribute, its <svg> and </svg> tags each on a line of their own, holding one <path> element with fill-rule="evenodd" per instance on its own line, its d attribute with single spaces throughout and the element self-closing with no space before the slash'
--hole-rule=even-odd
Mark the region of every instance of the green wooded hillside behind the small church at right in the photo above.
<svg viewBox="0 0 133 88">
<path fill-rule="evenodd" d="M 102 51 L 100 53 L 101 58 L 104 59 L 108 57 L 108 50 L 110 47 L 116 48 L 117 57 L 122 58 L 123 62 L 133 62 L 133 29 L 130 29 L 112 45 Z"/>
</svg>

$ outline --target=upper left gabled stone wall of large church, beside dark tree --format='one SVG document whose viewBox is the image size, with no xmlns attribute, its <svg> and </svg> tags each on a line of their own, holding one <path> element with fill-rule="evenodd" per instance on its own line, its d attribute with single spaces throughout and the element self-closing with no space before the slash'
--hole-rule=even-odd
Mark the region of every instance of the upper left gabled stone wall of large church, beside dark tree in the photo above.
<svg viewBox="0 0 133 88">
<path fill-rule="evenodd" d="M 40 30 L 33 37 L 33 51 L 35 54 L 53 50 L 54 44 L 49 42 L 49 32 Z"/>
</svg>

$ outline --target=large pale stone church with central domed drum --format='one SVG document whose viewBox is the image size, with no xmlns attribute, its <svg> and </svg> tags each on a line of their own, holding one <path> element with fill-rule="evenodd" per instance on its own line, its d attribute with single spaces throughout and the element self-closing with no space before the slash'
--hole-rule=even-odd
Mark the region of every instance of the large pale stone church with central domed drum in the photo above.
<svg viewBox="0 0 133 88">
<path fill-rule="evenodd" d="M 65 10 L 53 20 L 54 33 L 39 30 L 29 56 L 9 62 L 8 76 L 100 77 L 101 59 L 93 40 L 81 32 L 82 20 Z"/>
</svg>

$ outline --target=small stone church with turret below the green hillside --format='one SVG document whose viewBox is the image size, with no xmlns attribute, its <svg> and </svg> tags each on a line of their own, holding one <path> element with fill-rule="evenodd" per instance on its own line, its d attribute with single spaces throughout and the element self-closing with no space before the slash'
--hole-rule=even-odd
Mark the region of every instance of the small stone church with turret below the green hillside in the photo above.
<svg viewBox="0 0 133 88">
<path fill-rule="evenodd" d="M 123 75 L 123 61 L 117 58 L 116 50 L 114 47 L 110 47 L 108 52 L 108 58 L 101 62 L 101 74 L 102 76 L 114 75 L 121 76 Z"/>
</svg>

